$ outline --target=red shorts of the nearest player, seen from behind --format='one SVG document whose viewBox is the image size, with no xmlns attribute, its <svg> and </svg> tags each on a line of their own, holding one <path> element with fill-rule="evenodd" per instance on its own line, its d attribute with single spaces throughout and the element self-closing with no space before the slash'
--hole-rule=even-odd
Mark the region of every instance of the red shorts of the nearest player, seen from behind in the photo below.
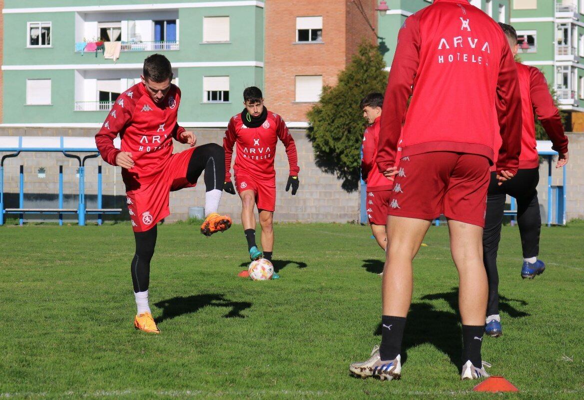
<svg viewBox="0 0 584 400">
<path fill-rule="evenodd" d="M 477 154 L 434 151 L 401 159 L 389 215 L 446 218 L 485 226 L 489 160 Z"/>
</svg>

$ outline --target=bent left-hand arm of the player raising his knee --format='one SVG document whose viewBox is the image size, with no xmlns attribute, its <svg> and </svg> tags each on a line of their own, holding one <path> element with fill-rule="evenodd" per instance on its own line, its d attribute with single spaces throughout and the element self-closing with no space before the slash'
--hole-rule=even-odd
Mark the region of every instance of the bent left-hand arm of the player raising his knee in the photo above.
<svg viewBox="0 0 584 400">
<path fill-rule="evenodd" d="M 125 105 L 122 102 L 114 102 L 112 109 L 107 114 L 102 128 L 95 135 L 95 144 L 98 147 L 99 154 L 107 164 L 127 168 L 134 166 L 131 153 L 120 151 L 113 145 L 113 140 L 119 135 L 126 126 L 130 125 L 134 107 L 130 102 Z"/>
</svg>

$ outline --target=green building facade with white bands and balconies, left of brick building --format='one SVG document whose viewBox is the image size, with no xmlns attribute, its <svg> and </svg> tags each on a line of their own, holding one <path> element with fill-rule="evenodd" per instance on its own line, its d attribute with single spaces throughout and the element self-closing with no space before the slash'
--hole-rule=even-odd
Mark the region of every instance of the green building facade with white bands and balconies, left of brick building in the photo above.
<svg viewBox="0 0 584 400">
<path fill-rule="evenodd" d="M 183 88 L 179 120 L 225 126 L 243 89 L 263 84 L 263 2 L 144 3 L 6 0 L 4 125 L 102 123 L 144 58 L 161 53 Z"/>
</svg>

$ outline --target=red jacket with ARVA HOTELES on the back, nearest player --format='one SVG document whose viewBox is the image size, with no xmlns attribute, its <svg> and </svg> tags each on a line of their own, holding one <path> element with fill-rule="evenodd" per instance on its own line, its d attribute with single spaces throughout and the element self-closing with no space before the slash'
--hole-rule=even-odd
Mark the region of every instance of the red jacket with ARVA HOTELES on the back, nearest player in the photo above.
<svg viewBox="0 0 584 400">
<path fill-rule="evenodd" d="M 494 162 L 497 96 L 507 105 L 497 112 L 503 141 L 498 168 L 515 173 L 521 97 L 507 38 L 468 0 L 434 0 L 399 31 L 381 114 L 379 170 L 395 166 L 404 119 L 402 157 L 457 151 Z"/>
</svg>

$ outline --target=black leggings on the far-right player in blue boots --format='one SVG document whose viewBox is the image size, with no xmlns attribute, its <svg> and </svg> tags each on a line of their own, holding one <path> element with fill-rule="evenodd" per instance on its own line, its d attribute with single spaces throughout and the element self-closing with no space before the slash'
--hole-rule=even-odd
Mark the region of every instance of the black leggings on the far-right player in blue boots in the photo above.
<svg viewBox="0 0 584 400">
<path fill-rule="evenodd" d="M 541 214 L 537 199 L 539 168 L 519 170 L 512 180 L 497 184 L 496 173 L 491 173 L 491 183 L 486 202 L 485 230 L 482 235 L 483 259 L 489 280 L 489 302 L 486 315 L 499 313 L 499 273 L 497 251 L 501 239 L 501 225 L 505 211 L 505 196 L 517 200 L 517 225 L 523 247 L 523 258 L 537 257 L 540 252 Z"/>
</svg>

